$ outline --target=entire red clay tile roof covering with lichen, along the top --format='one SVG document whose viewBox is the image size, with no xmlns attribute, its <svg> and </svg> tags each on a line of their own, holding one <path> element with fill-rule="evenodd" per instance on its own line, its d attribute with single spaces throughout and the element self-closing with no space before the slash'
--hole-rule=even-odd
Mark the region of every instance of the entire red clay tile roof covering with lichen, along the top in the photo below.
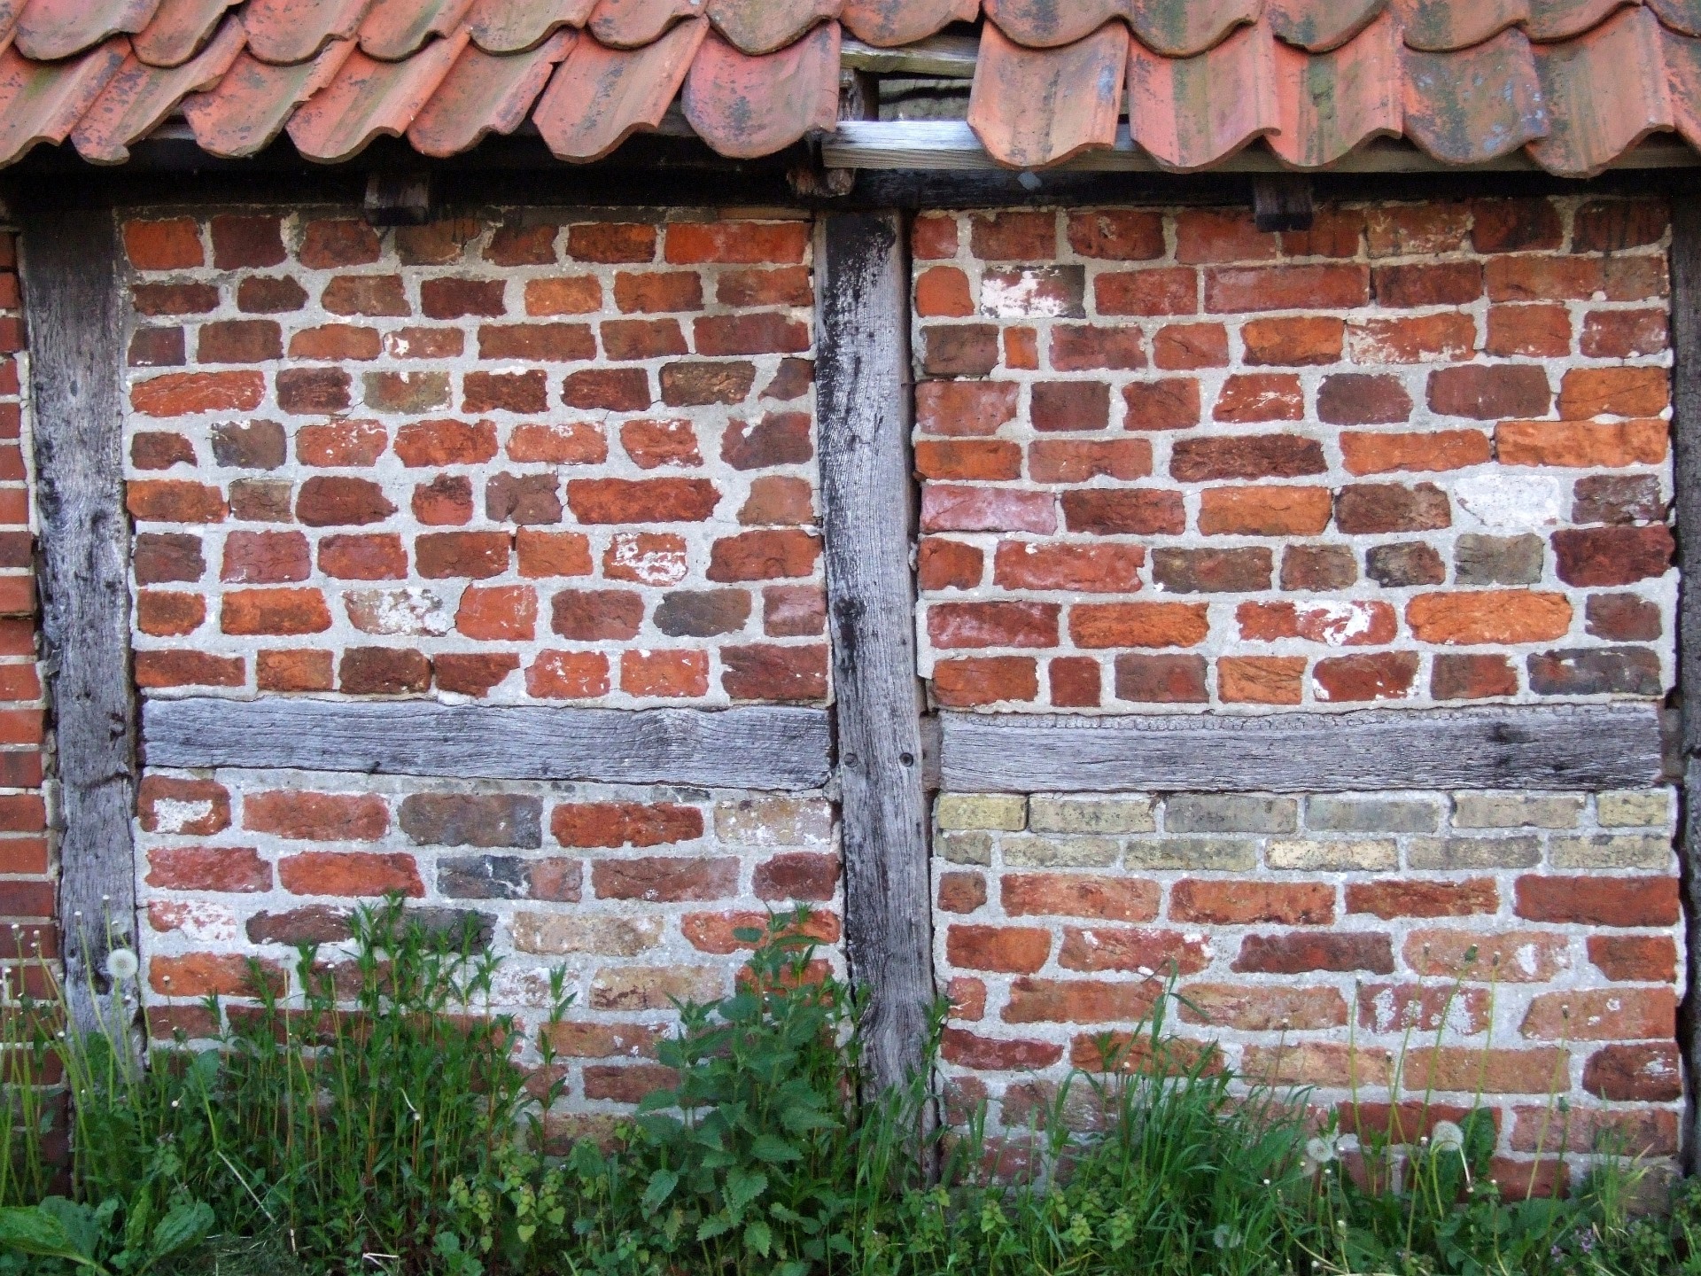
<svg viewBox="0 0 1701 1276">
<path fill-rule="evenodd" d="M 1124 100 L 1175 170 L 1403 136 L 1589 175 L 1650 131 L 1701 145 L 1701 0 L 0 0 L 0 163 L 66 138 L 119 162 L 179 109 L 221 157 L 282 129 L 325 162 L 386 133 L 454 155 L 529 119 L 590 160 L 675 99 L 767 155 L 835 128 L 840 24 L 893 48 L 964 20 L 970 126 L 1009 167 L 1119 145 Z"/>
</svg>

